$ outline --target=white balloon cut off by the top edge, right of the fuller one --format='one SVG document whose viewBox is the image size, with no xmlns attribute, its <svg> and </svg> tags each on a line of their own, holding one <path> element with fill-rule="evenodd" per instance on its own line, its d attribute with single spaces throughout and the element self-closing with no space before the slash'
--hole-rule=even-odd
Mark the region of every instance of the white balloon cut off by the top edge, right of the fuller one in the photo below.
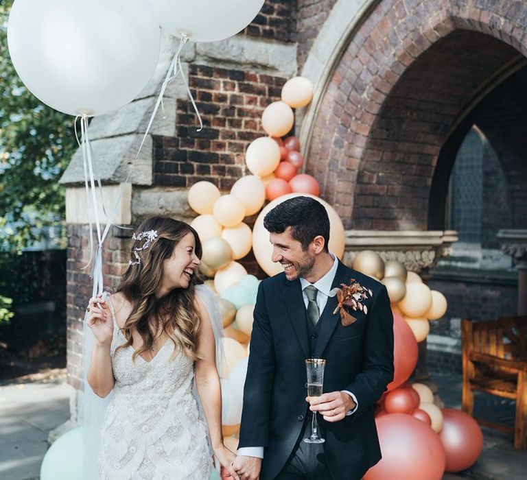
<svg viewBox="0 0 527 480">
<path fill-rule="evenodd" d="M 214 42 L 241 32 L 264 0 L 150 0 L 167 32 L 193 42 Z"/>
</svg>

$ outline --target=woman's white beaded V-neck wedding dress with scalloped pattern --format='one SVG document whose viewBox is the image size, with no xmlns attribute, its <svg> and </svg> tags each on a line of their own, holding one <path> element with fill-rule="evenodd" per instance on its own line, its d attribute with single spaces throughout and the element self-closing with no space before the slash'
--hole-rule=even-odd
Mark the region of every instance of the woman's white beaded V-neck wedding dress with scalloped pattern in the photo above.
<svg viewBox="0 0 527 480">
<path fill-rule="evenodd" d="M 120 348 L 115 326 L 110 348 L 115 396 L 108 406 L 99 449 L 99 477 L 208 479 L 207 429 L 192 393 L 194 363 L 168 339 L 151 361 Z"/>
</svg>

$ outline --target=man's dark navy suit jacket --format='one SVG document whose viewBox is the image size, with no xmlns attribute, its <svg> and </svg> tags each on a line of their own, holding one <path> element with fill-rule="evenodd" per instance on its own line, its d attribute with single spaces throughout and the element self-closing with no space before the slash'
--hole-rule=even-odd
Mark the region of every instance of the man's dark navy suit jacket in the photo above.
<svg viewBox="0 0 527 480">
<path fill-rule="evenodd" d="M 368 314 L 342 326 L 329 297 L 316 333 L 309 332 L 300 280 L 278 274 L 260 283 L 244 387 L 239 447 L 264 446 L 261 480 L 276 477 L 301 434 L 309 405 L 305 359 L 327 360 L 323 392 L 348 390 L 358 410 L 340 422 L 318 416 L 333 480 L 355 480 L 381 458 L 375 402 L 393 379 L 393 316 L 382 283 L 339 263 L 332 288 L 351 278 L 373 291 Z M 316 335 L 316 337 L 313 337 Z"/>
</svg>

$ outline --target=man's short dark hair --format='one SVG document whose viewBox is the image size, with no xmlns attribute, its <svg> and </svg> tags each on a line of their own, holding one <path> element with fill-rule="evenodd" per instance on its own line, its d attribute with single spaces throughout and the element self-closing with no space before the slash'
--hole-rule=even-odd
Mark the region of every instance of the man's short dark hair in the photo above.
<svg viewBox="0 0 527 480">
<path fill-rule="evenodd" d="M 311 197 L 294 197 L 275 206 L 265 217 L 264 226 L 271 233 L 283 233 L 291 227 L 293 239 L 307 250 L 318 235 L 324 237 L 328 252 L 329 217 L 323 204 Z"/>
</svg>

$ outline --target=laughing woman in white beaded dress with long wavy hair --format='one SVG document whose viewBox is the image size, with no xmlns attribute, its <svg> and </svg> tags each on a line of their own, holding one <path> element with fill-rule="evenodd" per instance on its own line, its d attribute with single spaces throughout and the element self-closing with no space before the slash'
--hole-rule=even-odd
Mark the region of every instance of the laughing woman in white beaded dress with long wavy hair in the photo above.
<svg viewBox="0 0 527 480">
<path fill-rule="evenodd" d="M 92 298 L 87 309 L 95 337 L 87 381 L 100 398 L 112 392 L 98 476 L 209 479 L 210 442 L 238 479 L 235 455 L 223 444 L 211 302 L 207 287 L 196 285 L 198 235 L 183 221 L 163 217 L 143 221 L 138 232 L 116 293 Z"/>
</svg>

